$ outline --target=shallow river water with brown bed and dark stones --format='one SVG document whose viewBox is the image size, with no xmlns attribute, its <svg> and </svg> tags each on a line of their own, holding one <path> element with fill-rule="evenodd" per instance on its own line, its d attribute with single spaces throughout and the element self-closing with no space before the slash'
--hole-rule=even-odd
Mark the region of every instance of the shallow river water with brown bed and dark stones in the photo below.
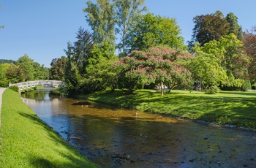
<svg viewBox="0 0 256 168">
<path fill-rule="evenodd" d="M 256 132 L 124 110 L 48 90 L 22 95 L 99 167 L 256 167 Z"/>
</svg>

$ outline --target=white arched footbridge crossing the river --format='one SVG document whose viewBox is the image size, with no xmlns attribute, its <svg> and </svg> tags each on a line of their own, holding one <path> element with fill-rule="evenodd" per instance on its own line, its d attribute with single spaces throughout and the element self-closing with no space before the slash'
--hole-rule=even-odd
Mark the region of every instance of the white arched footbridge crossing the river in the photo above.
<svg viewBox="0 0 256 168">
<path fill-rule="evenodd" d="M 10 83 L 9 87 L 13 85 L 18 86 L 19 90 L 22 91 L 23 89 L 34 88 L 38 85 L 42 85 L 45 87 L 61 87 L 64 86 L 64 82 L 60 80 L 34 80 L 23 83 Z"/>
</svg>

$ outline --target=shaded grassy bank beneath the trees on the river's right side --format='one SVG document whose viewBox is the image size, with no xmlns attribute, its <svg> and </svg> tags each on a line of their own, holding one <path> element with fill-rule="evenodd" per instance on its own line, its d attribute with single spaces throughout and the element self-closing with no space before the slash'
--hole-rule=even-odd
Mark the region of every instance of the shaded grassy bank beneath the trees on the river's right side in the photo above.
<svg viewBox="0 0 256 168">
<path fill-rule="evenodd" d="M 159 91 L 140 90 L 131 95 L 115 91 L 79 97 L 145 112 L 256 129 L 256 93 L 223 91 L 205 94 L 200 91 L 171 91 L 161 96 Z"/>
</svg>

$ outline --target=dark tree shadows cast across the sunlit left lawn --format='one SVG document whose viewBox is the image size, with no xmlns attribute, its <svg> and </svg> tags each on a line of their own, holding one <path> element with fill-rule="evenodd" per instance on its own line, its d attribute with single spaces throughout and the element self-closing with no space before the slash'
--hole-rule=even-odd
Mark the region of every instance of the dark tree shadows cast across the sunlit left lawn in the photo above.
<svg viewBox="0 0 256 168">
<path fill-rule="evenodd" d="M 91 164 L 91 161 L 84 161 L 85 158 L 82 159 L 82 156 L 78 156 L 79 152 L 75 149 L 72 149 L 73 147 L 69 145 L 68 142 L 66 142 L 62 137 L 59 135 L 59 133 L 55 130 L 53 130 L 52 127 L 48 126 L 44 121 L 40 120 L 37 115 L 34 114 L 26 114 L 19 112 L 21 116 L 24 118 L 27 118 L 31 120 L 31 122 L 38 124 L 39 126 L 42 126 L 43 129 L 45 129 L 48 132 L 48 136 L 50 137 L 50 140 L 56 143 L 55 148 L 52 148 L 51 150 L 54 150 L 55 152 L 58 151 L 59 156 L 63 157 L 68 160 L 66 163 L 61 163 L 60 161 L 56 161 L 59 164 L 53 163 L 49 161 L 48 159 L 42 158 L 40 156 L 30 156 L 29 161 L 33 167 L 95 167 L 94 164 Z M 63 148 L 67 149 L 69 153 L 63 153 L 63 151 L 59 150 L 58 146 L 61 145 Z"/>
</svg>

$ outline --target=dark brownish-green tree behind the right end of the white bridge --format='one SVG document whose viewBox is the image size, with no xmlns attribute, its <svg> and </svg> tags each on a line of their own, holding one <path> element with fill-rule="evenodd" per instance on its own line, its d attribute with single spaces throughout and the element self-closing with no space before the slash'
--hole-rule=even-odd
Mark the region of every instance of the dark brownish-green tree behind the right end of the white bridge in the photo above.
<svg viewBox="0 0 256 168">
<path fill-rule="evenodd" d="M 67 65 L 67 57 L 54 58 L 50 62 L 50 80 L 64 81 L 65 69 Z"/>
</svg>

